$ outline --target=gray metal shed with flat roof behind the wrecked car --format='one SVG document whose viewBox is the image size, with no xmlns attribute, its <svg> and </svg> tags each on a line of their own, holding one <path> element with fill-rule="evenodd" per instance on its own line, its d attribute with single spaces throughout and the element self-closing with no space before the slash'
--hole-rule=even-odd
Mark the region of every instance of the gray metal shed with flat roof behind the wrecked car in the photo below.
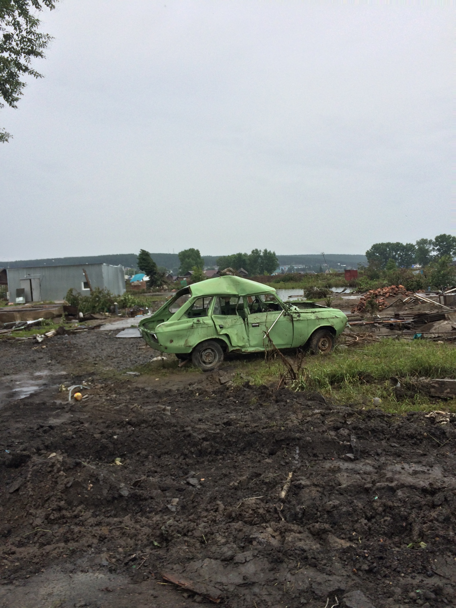
<svg viewBox="0 0 456 608">
<path fill-rule="evenodd" d="M 16 289 L 26 302 L 63 300 L 68 289 L 90 295 L 84 271 L 92 289 L 106 288 L 114 295 L 125 292 L 125 274 L 122 266 L 110 264 L 75 264 L 74 266 L 36 266 L 35 268 L 7 268 L 9 301 L 16 302 Z M 19 294 L 17 294 L 19 295 Z"/>
</svg>

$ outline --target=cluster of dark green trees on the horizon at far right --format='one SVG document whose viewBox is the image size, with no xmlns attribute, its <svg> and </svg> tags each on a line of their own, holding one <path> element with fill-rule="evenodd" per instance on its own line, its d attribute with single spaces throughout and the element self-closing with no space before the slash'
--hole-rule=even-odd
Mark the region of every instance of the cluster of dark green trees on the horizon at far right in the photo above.
<svg viewBox="0 0 456 608">
<path fill-rule="evenodd" d="M 444 256 L 456 255 L 456 237 L 440 234 L 434 238 L 420 238 L 413 243 L 375 243 L 366 251 L 368 263 L 384 270 L 390 260 L 399 268 L 410 268 L 412 264 L 427 266 Z"/>
</svg>

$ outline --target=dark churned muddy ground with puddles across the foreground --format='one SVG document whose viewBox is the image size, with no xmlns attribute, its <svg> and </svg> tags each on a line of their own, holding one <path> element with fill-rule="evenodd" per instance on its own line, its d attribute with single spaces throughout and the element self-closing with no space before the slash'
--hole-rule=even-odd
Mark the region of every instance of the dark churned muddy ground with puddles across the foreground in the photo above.
<svg viewBox="0 0 456 608">
<path fill-rule="evenodd" d="M 133 378 L 114 336 L 0 344 L 1 608 L 456 606 L 456 416 Z"/>
</svg>

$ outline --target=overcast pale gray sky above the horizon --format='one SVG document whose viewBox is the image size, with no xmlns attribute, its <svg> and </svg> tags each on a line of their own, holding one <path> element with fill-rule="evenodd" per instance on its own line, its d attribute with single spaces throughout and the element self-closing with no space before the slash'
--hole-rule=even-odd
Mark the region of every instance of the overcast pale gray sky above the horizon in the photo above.
<svg viewBox="0 0 456 608">
<path fill-rule="evenodd" d="M 408 4 L 62 0 L 0 111 L 0 260 L 452 232 L 454 7 Z"/>
</svg>

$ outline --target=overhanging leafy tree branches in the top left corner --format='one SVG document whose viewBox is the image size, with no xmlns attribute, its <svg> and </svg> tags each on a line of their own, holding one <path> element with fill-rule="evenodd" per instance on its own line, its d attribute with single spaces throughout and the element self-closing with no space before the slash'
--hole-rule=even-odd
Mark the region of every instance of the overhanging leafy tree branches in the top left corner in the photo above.
<svg viewBox="0 0 456 608">
<path fill-rule="evenodd" d="M 52 36 L 38 32 L 40 19 L 36 12 L 46 6 L 52 10 L 58 0 L 0 0 L 0 98 L 10 108 L 17 102 L 26 86 L 24 75 L 42 78 L 30 67 L 33 58 L 44 58 Z M 0 108 L 4 103 L 0 102 Z M 10 133 L 0 130 L 0 142 L 7 142 Z"/>
</svg>

